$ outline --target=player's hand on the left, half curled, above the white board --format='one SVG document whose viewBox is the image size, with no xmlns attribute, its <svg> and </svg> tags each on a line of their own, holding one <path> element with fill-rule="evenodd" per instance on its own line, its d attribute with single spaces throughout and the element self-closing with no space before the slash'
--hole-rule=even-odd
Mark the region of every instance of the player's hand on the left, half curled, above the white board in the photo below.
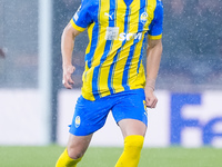
<svg viewBox="0 0 222 167">
<path fill-rule="evenodd" d="M 74 72 L 75 67 L 72 65 L 65 65 L 63 66 L 63 79 L 62 84 L 67 89 L 72 89 L 72 85 L 74 81 L 72 80 L 71 76 Z"/>
</svg>

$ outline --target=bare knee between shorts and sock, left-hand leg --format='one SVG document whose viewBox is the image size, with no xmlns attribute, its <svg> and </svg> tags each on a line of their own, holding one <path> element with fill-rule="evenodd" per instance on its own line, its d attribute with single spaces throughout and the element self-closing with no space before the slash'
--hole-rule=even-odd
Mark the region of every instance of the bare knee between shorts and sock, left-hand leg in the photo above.
<svg viewBox="0 0 222 167">
<path fill-rule="evenodd" d="M 74 136 L 70 134 L 67 145 L 69 157 L 71 157 L 72 159 L 78 159 L 82 157 L 89 147 L 92 135 L 93 134 L 88 136 Z"/>
</svg>

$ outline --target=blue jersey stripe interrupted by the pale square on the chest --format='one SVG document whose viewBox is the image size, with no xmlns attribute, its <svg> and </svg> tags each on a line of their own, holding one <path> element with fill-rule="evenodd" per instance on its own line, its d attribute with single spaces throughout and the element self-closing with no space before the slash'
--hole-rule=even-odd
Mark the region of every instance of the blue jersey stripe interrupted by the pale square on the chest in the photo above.
<svg viewBox="0 0 222 167">
<path fill-rule="evenodd" d="M 110 0 L 110 11 L 109 11 L 109 14 L 110 16 L 113 16 L 113 13 L 115 12 L 115 1 L 113 0 Z M 109 27 L 114 27 L 114 16 L 113 17 L 109 17 Z M 107 57 L 109 56 L 109 52 L 112 48 L 112 45 L 113 45 L 113 41 L 112 40 L 107 40 L 105 42 L 105 47 L 104 47 L 104 52 L 100 59 L 100 65 L 97 66 L 94 68 L 94 71 L 93 71 L 93 77 L 92 77 L 92 90 L 93 90 L 93 96 L 95 99 L 100 98 L 101 95 L 100 95 L 100 90 L 99 90 L 99 80 L 100 80 L 100 70 L 101 70 L 101 66 L 102 63 L 105 61 Z"/>
</svg>

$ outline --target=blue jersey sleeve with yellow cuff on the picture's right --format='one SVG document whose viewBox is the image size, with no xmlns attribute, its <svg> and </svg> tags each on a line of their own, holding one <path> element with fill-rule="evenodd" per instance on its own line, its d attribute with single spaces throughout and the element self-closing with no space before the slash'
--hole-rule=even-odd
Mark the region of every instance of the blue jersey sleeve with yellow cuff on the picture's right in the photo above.
<svg viewBox="0 0 222 167">
<path fill-rule="evenodd" d="M 157 0 L 157 8 L 154 10 L 154 19 L 149 27 L 149 39 L 158 40 L 162 38 L 163 31 L 163 4 L 161 0 Z"/>
</svg>

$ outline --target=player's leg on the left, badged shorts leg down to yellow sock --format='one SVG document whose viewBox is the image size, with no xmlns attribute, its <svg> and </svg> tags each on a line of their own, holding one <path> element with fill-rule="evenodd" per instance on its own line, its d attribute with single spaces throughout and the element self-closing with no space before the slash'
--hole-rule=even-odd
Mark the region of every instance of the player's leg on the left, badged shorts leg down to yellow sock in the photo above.
<svg viewBox="0 0 222 167">
<path fill-rule="evenodd" d="M 57 167 L 75 167 L 84 155 L 92 134 L 103 127 L 112 105 L 109 98 L 90 101 L 78 99 L 67 149 L 60 156 Z"/>
</svg>

